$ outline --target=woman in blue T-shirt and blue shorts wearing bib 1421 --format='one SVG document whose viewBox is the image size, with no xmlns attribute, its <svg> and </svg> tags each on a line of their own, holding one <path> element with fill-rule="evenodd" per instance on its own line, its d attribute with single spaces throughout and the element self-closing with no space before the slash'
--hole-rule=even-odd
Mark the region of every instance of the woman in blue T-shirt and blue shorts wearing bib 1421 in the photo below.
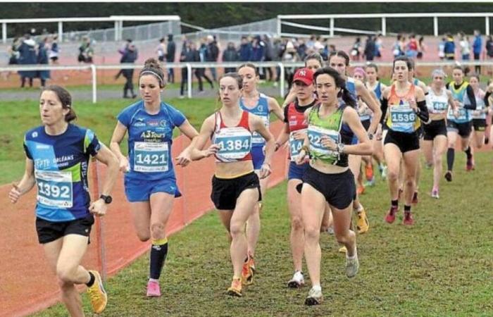
<svg viewBox="0 0 493 317">
<path fill-rule="evenodd" d="M 152 240 L 147 297 L 161 296 L 159 278 L 168 254 L 165 229 L 173 201 L 181 196 L 171 157 L 173 129 L 180 129 L 189 139 L 199 134 L 180 111 L 161 101 L 165 86 L 159 62 L 147 59 L 139 74 L 142 100 L 118 114 L 111 137 L 111 150 L 125 173 L 125 195 L 130 201 L 137 237 L 142 242 Z M 127 133 L 128 158 L 120 149 L 120 142 Z M 190 148 L 176 158 L 178 165 L 189 163 Z"/>
</svg>

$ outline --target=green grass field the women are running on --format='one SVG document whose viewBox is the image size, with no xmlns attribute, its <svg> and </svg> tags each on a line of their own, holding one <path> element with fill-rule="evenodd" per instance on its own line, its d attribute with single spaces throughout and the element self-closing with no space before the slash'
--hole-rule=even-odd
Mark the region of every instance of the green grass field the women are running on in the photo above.
<svg viewBox="0 0 493 317">
<path fill-rule="evenodd" d="M 212 99 L 169 102 L 197 128 L 217 105 Z M 120 100 L 76 103 L 77 124 L 91 127 L 107 143 L 125 105 Z M 39 114 L 35 102 L 25 101 L 0 103 L 0 113 L 0 183 L 6 183 L 23 173 L 23 133 L 39 124 Z M 282 183 L 265 199 L 258 275 L 243 298 L 225 295 L 232 277 L 229 246 L 218 215 L 211 212 L 170 238 L 161 298 L 144 296 L 149 256 L 142 256 L 106 282 L 109 303 L 103 316 L 492 316 L 492 151 L 475 161 L 476 170 L 466 173 L 464 155 L 456 155 L 454 182 L 442 183 L 439 200 L 430 198 L 432 171 L 423 169 L 412 228 L 401 225 L 401 217 L 393 225 L 383 221 L 389 205 L 385 182 L 368 188 L 361 201 L 371 227 L 358 236 L 356 278 L 344 275 L 344 255 L 337 253 L 335 238 L 323 234 L 320 239 L 325 296 L 320 306 L 304 306 L 309 287 L 286 287 L 292 261 Z M 83 300 L 89 313 L 85 294 Z M 57 305 L 35 316 L 67 312 Z"/>
</svg>

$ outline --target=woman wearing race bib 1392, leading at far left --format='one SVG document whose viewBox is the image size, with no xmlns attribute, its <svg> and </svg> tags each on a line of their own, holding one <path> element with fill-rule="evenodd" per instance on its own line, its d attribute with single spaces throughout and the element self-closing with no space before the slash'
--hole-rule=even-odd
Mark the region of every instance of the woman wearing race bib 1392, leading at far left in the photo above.
<svg viewBox="0 0 493 317">
<path fill-rule="evenodd" d="M 61 299 L 70 316 L 84 316 L 76 285 L 87 285 L 94 313 L 108 301 L 97 271 L 80 265 L 89 244 L 94 215 L 104 216 L 118 176 L 118 160 L 92 130 L 75 120 L 72 97 L 60 86 L 46 87 L 39 98 L 42 125 L 24 137 L 25 173 L 8 197 L 19 197 L 37 185 L 36 230 L 51 271 L 58 278 Z M 104 163 L 101 197 L 91 202 L 87 182 L 89 157 Z"/>
</svg>

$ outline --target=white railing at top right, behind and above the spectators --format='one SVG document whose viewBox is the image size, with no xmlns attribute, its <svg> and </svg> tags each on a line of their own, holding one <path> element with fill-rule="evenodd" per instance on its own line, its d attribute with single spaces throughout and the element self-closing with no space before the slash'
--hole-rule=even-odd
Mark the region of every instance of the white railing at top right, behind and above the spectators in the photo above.
<svg viewBox="0 0 493 317">
<path fill-rule="evenodd" d="M 489 18 L 493 12 L 481 13 L 362 13 L 362 14 L 294 14 L 294 15 L 277 15 L 277 36 L 282 34 L 282 20 L 315 20 L 328 19 L 330 27 L 328 28 L 330 37 L 334 36 L 337 31 L 335 27 L 336 19 L 360 19 L 360 18 L 380 18 L 382 20 L 382 35 L 387 35 L 387 18 L 433 18 L 433 35 L 439 35 L 438 18 L 485 18 L 485 34 L 489 35 Z M 313 26 L 312 26 L 313 27 Z M 316 29 L 313 29 L 316 30 Z"/>
</svg>

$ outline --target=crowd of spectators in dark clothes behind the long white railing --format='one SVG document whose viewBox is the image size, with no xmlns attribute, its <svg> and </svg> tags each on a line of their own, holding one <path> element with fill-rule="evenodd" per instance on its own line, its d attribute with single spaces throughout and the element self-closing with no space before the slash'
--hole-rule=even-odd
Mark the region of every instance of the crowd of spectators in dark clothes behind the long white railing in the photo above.
<svg viewBox="0 0 493 317">
<path fill-rule="evenodd" d="M 39 38 L 39 37 L 38 37 Z M 399 34 L 397 35 L 394 44 L 386 48 L 382 44 L 382 35 L 367 35 L 363 43 L 362 37 L 356 37 L 354 44 L 350 47 L 348 53 L 354 61 L 374 61 L 382 58 L 382 50 L 388 49 L 392 51 L 392 56 L 408 56 L 411 58 L 423 58 L 425 54 L 432 54 L 428 51 L 425 44 L 425 38 L 415 34 Z M 123 49 L 120 49 L 121 63 L 134 63 L 137 59 L 137 47 L 132 44 L 132 41 L 127 42 Z M 297 62 L 304 61 L 305 56 L 318 53 L 323 59 L 331 51 L 335 51 L 335 45 L 331 44 L 330 39 L 320 35 L 311 35 L 308 38 L 277 38 L 270 35 L 255 35 L 243 36 L 239 43 L 227 42 L 225 47 L 221 47 L 215 35 L 208 35 L 203 39 L 192 41 L 187 39 L 185 35 L 182 37 L 181 49 L 177 49 L 177 44 L 173 39 L 173 35 L 159 39 L 156 47 L 156 56 L 158 61 L 165 63 L 175 62 L 267 62 L 267 61 L 282 61 L 282 62 Z M 16 38 L 13 44 L 8 47 L 9 64 L 48 64 L 58 63 L 60 49 L 56 35 L 42 35 L 41 40 L 36 42 L 30 34 L 26 34 L 22 38 Z M 179 57 L 178 57 L 179 56 Z M 488 35 L 482 37 L 478 30 L 474 31 L 472 37 L 469 37 L 464 32 L 458 32 L 454 37 L 451 33 L 446 33 L 438 43 L 437 56 L 442 60 L 480 60 L 493 58 L 493 38 Z M 89 37 L 82 37 L 80 46 L 78 46 L 77 54 L 78 63 L 94 63 L 94 41 Z M 235 68 L 227 67 L 225 72 L 234 71 Z M 480 70 L 476 66 L 476 71 Z M 286 69 L 286 79 L 292 75 L 289 68 Z M 187 68 L 182 68 L 181 93 L 187 89 Z M 258 73 L 261 80 L 277 82 L 280 77 L 279 67 L 259 68 Z M 41 80 L 41 85 L 46 84 L 49 79 L 48 70 L 38 71 L 20 71 L 21 87 L 25 87 L 26 82 L 32 86 L 34 78 Z M 130 91 L 130 96 L 133 97 L 133 84 L 131 77 L 133 71 L 122 70 L 118 75 L 123 75 L 127 82 L 125 83 L 124 96 L 129 96 L 127 91 Z M 214 82 L 217 81 L 216 68 L 194 68 L 192 70 L 199 83 L 199 91 L 204 90 L 203 81 L 208 82 L 211 88 L 214 87 Z M 129 78 L 130 76 L 130 78 Z M 173 68 L 168 68 L 168 82 L 175 82 L 175 74 Z"/>
</svg>

